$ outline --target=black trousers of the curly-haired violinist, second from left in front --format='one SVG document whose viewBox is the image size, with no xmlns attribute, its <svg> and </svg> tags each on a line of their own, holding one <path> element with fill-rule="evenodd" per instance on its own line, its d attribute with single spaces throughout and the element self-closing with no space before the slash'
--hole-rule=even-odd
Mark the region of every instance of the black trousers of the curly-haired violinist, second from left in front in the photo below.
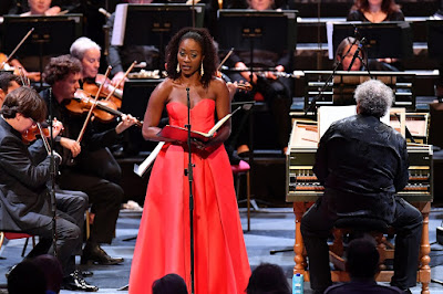
<svg viewBox="0 0 443 294">
<path fill-rule="evenodd" d="M 112 181 L 66 168 L 62 170 L 58 182 L 62 189 L 87 195 L 91 210 L 95 213 L 90 241 L 110 244 L 123 201 L 123 189 Z"/>
</svg>

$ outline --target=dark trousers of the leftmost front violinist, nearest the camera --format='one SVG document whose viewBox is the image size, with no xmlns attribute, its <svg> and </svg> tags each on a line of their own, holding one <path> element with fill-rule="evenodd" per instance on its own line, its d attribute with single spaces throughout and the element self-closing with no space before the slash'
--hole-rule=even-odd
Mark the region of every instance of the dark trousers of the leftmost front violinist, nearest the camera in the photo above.
<svg viewBox="0 0 443 294">
<path fill-rule="evenodd" d="M 75 270 L 75 254 L 78 254 L 82 245 L 81 228 L 83 227 L 84 212 L 87 209 L 87 196 L 81 192 L 55 192 L 55 202 L 56 256 L 62 265 L 64 275 L 69 275 Z M 27 258 L 54 253 L 52 217 L 47 216 L 47 225 L 25 231 L 29 234 L 40 237 L 39 243 Z"/>
</svg>

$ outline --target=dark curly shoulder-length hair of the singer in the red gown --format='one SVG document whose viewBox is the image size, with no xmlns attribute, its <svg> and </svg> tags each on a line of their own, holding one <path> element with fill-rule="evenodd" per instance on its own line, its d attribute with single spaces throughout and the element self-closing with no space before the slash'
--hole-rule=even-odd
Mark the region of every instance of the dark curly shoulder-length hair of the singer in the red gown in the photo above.
<svg viewBox="0 0 443 294">
<path fill-rule="evenodd" d="M 173 80 L 177 80 L 181 76 L 181 73 L 177 73 L 176 70 L 178 63 L 177 53 L 179 43 L 186 39 L 193 39 L 202 46 L 202 54 L 204 56 L 203 69 L 205 73 L 203 74 L 200 82 L 204 87 L 207 87 L 217 71 L 218 56 L 214 46 L 214 40 L 206 29 L 184 28 L 179 30 L 173 39 L 171 39 L 166 48 L 167 75 Z"/>
</svg>

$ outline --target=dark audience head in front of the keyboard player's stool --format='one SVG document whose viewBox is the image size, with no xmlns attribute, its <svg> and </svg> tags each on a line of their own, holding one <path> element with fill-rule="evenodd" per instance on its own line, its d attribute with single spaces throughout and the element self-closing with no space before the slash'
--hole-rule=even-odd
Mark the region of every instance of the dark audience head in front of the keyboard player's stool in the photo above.
<svg viewBox="0 0 443 294">
<path fill-rule="evenodd" d="M 347 270 L 351 279 L 374 279 L 379 270 L 379 258 L 372 237 L 352 240 L 347 250 Z"/>
</svg>

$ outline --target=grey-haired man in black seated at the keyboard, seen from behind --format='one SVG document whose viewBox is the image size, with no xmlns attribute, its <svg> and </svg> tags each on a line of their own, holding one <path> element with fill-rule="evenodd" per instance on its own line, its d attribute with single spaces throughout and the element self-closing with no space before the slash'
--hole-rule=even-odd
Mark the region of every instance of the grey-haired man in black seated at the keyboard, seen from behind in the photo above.
<svg viewBox="0 0 443 294">
<path fill-rule="evenodd" d="M 422 214 L 395 196 L 409 179 L 405 139 L 380 122 L 393 93 L 371 80 L 356 90 L 357 115 L 333 123 L 320 139 L 313 171 L 324 193 L 301 219 L 315 293 L 332 284 L 328 237 L 338 216 L 363 214 L 395 230 L 391 285 L 405 293 L 416 283 Z"/>
</svg>

